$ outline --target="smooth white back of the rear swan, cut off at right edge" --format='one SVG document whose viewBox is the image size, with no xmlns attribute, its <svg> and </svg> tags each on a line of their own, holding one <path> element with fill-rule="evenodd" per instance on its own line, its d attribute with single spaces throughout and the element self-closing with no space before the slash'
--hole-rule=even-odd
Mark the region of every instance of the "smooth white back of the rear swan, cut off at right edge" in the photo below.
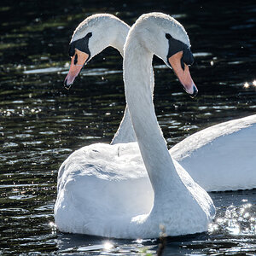
<svg viewBox="0 0 256 256">
<path fill-rule="evenodd" d="M 207 191 L 253 189 L 256 115 L 213 125 L 177 143 L 170 154 Z"/>
</svg>

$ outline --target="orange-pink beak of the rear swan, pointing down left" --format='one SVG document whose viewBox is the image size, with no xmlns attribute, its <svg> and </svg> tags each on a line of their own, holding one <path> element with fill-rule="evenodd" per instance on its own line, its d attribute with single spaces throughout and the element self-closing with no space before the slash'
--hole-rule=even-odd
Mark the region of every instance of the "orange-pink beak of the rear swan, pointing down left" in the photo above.
<svg viewBox="0 0 256 256">
<path fill-rule="evenodd" d="M 67 73 L 67 77 L 64 80 L 64 86 L 67 89 L 69 89 L 71 84 L 73 84 L 74 79 L 79 75 L 82 67 L 84 67 L 84 63 L 88 60 L 88 58 L 88 54 L 80 51 L 79 49 L 75 49 L 75 54 L 71 58 L 69 72 Z"/>
</svg>

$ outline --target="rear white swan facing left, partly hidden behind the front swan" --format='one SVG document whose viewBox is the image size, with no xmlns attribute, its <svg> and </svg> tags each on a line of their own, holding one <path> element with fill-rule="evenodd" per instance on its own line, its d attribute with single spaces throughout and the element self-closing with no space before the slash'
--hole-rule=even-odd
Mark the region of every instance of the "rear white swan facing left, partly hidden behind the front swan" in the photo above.
<svg viewBox="0 0 256 256">
<path fill-rule="evenodd" d="M 129 29 L 130 26 L 114 15 L 91 15 L 79 24 L 73 33 L 72 44 L 75 44 L 74 42 L 81 35 L 84 37 L 93 31 L 95 38 L 91 38 L 93 41 L 90 41 L 90 46 L 88 46 L 90 58 L 87 58 L 84 63 L 90 61 L 94 55 L 108 46 L 118 49 L 123 56 L 123 47 Z M 102 35 L 104 35 L 104 40 L 102 40 Z M 74 55 L 72 57 L 74 59 Z M 71 65 L 65 79 L 67 88 L 73 84 L 83 65 L 76 67 L 79 68 L 77 73 L 73 72 L 73 67 L 75 65 Z M 153 71 L 150 84 L 154 90 Z M 256 114 L 253 114 L 198 131 L 177 143 L 169 152 L 173 159 L 189 172 L 195 182 L 207 191 L 253 189 L 256 187 L 255 133 Z M 131 125 L 130 114 L 125 108 L 124 117 L 111 144 L 136 141 L 137 137 Z M 144 174 L 148 175 L 146 170 Z"/>
</svg>

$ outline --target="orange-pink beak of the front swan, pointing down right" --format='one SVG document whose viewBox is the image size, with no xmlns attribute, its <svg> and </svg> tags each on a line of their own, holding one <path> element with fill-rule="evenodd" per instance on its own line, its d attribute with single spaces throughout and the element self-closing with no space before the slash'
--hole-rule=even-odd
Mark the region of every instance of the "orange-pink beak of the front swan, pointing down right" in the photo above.
<svg viewBox="0 0 256 256">
<path fill-rule="evenodd" d="M 191 79 L 189 73 L 189 66 L 184 63 L 184 70 L 181 67 L 181 58 L 183 57 L 183 51 L 177 52 L 177 54 L 172 55 L 168 61 L 172 66 L 174 73 L 176 73 L 177 78 L 180 83 L 183 84 L 184 90 L 189 93 L 190 96 L 196 96 L 198 90 L 195 86 L 194 81 Z"/>
</svg>

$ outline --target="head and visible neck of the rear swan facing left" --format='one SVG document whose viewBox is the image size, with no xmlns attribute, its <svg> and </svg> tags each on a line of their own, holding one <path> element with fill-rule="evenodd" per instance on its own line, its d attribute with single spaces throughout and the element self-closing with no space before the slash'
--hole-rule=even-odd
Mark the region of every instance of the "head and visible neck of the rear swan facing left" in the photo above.
<svg viewBox="0 0 256 256">
<path fill-rule="evenodd" d="M 65 87 L 69 89 L 74 79 L 79 75 L 82 67 L 108 46 L 117 49 L 120 55 L 123 56 L 125 39 L 129 30 L 130 26 L 123 20 L 110 14 L 90 15 L 82 21 L 73 32 L 69 49 L 71 66 L 64 81 Z M 93 37 L 90 38 L 90 33 L 92 32 Z M 86 46 L 83 48 L 80 43 L 84 43 Z M 153 71 L 151 79 L 154 81 Z M 130 114 L 127 108 L 125 108 L 124 117 L 111 144 L 136 141 L 137 137 L 131 125 Z"/>
</svg>

